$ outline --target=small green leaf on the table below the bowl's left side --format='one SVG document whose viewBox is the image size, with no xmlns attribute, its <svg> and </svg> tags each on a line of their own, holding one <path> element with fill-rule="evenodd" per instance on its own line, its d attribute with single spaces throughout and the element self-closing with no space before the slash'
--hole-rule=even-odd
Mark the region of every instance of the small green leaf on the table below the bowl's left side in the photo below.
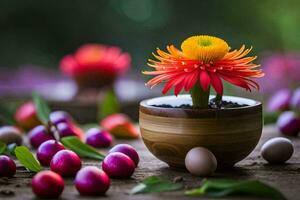
<svg viewBox="0 0 300 200">
<path fill-rule="evenodd" d="M 142 183 L 139 183 L 129 192 L 130 194 L 139 193 L 159 193 L 175 191 L 182 188 L 182 184 L 162 180 L 157 176 L 149 176 Z"/>
</svg>

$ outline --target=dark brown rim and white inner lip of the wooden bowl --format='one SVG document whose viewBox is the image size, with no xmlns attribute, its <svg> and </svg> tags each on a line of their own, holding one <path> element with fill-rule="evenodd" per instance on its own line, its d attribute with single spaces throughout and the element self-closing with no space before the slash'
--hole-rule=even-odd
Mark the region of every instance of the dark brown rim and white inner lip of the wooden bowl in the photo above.
<svg viewBox="0 0 300 200">
<path fill-rule="evenodd" d="M 213 97 L 214 96 L 210 96 L 210 98 Z M 140 102 L 140 112 L 148 115 L 174 118 L 222 118 L 239 115 L 255 115 L 261 114 L 262 112 L 262 103 L 259 101 L 235 96 L 223 96 L 223 99 L 241 104 L 247 104 L 247 106 L 226 109 L 163 108 L 153 106 L 155 104 L 191 104 L 192 99 L 190 95 L 187 94 L 178 95 L 177 97 L 163 96 L 143 100 Z"/>
</svg>

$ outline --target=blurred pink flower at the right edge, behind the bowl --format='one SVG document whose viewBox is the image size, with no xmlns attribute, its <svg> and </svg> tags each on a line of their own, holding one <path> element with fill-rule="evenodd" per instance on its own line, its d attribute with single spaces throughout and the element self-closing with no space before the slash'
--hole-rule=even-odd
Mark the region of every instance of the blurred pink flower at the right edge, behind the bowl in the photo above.
<svg viewBox="0 0 300 200">
<path fill-rule="evenodd" d="M 266 56 L 261 65 L 266 74 L 258 80 L 262 92 L 272 94 L 279 89 L 300 85 L 299 53 L 274 53 Z"/>
</svg>

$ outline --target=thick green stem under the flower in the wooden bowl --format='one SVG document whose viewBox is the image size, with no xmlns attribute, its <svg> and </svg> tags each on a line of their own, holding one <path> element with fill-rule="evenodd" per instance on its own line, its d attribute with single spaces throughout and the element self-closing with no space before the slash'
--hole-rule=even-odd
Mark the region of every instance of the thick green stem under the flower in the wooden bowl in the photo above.
<svg viewBox="0 0 300 200">
<path fill-rule="evenodd" d="M 199 83 L 196 83 L 191 90 L 193 108 L 208 108 L 210 89 L 204 91 Z"/>
</svg>

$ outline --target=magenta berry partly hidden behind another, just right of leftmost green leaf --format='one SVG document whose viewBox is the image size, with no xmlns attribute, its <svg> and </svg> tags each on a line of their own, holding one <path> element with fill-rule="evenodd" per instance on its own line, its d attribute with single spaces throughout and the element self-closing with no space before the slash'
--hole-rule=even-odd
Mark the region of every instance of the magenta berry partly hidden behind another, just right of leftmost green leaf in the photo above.
<svg viewBox="0 0 300 200">
<path fill-rule="evenodd" d="M 64 146 L 56 140 L 48 140 L 43 142 L 37 150 L 37 159 L 44 166 L 49 166 L 52 157 L 60 150 L 65 149 Z"/>
</svg>

